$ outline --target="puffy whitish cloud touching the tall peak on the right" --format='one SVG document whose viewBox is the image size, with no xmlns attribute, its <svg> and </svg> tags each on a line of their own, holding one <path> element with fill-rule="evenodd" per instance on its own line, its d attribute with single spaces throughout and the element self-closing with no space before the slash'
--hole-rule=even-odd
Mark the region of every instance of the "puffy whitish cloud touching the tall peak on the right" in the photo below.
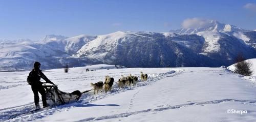
<svg viewBox="0 0 256 122">
<path fill-rule="evenodd" d="M 207 27 L 210 24 L 210 20 L 194 17 L 185 19 L 181 25 L 183 28 L 199 28 Z"/>
</svg>

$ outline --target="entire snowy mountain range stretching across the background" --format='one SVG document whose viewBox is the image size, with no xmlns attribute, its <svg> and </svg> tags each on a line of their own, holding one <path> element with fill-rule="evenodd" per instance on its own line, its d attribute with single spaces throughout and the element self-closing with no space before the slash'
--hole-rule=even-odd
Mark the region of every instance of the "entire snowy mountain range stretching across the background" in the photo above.
<svg viewBox="0 0 256 122">
<path fill-rule="evenodd" d="M 68 64 L 126 67 L 229 66 L 239 53 L 256 58 L 256 32 L 210 21 L 206 27 L 181 28 L 168 33 L 115 32 L 65 37 L 47 35 L 40 41 L 0 41 L 0 70 L 30 70 L 35 61 L 43 69 Z"/>
</svg>

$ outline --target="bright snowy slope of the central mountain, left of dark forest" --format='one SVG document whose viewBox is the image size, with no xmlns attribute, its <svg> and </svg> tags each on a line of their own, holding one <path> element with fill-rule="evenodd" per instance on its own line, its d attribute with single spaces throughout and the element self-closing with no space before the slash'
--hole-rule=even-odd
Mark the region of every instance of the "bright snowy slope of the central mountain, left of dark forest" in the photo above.
<svg viewBox="0 0 256 122">
<path fill-rule="evenodd" d="M 84 45 L 76 56 L 88 58 L 95 58 L 96 60 L 115 59 L 117 53 L 125 48 L 125 45 L 134 45 L 135 43 L 146 43 L 154 40 L 155 35 L 161 35 L 160 33 L 152 32 L 115 32 L 108 35 L 97 36 L 95 40 L 90 41 Z M 131 45 L 130 45 L 131 44 Z M 111 56 L 109 56 L 111 55 Z M 109 56 L 109 57 L 108 57 Z M 107 57 L 107 58 L 106 58 Z"/>
</svg>

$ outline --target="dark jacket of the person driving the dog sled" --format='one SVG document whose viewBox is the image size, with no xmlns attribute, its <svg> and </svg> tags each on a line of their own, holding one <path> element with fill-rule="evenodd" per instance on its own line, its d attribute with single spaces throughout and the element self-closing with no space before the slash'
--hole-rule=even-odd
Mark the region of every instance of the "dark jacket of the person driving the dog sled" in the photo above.
<svg viewBox="0 0 256 122">
<path fill-rule="evenodd" d="M 31 73 L 32 73 L 32 76 L 34 76 L 34 78 L 33 78 L 34 81 L 33 81 L 32 85 L 42 85 L 42 82 L 40 81 L 41 78 L 44 79 L 47 83 L 54 84 L 39 69 L 33 69 Z"/>
</svg>

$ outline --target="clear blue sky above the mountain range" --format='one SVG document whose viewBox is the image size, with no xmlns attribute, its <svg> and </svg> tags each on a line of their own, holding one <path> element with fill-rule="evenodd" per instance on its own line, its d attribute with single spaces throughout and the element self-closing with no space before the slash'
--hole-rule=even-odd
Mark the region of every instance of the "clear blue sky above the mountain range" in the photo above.
<svg viewBox="0 0 256 122">
<path fill-rule="evenodd" d="M 194 17 L 256 29 L 256 1 L 0 0 L 0 39 L 168 32 Z"/>
</svg>

